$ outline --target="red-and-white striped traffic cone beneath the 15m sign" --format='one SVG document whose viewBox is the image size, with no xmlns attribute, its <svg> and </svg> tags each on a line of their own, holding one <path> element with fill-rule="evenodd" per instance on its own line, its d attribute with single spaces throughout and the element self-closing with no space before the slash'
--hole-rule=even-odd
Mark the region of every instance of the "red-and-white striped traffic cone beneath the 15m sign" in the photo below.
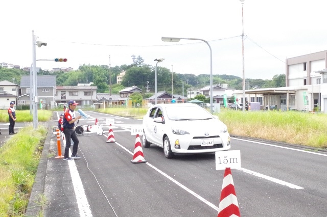
<svg viewBox="0 0 327 217">
<path fill-rule="evenodd" d="M 230 168 L 225 169 L 223 186 L 221 188 L 218 217 L 241 216 L 235 193 L 233 177 Z"/>
</svg>

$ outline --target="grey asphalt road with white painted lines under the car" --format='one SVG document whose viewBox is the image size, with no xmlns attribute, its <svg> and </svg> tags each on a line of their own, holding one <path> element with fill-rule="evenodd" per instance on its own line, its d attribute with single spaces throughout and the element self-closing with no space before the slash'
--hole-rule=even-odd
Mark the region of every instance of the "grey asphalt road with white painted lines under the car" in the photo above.
<svg viewBox="0 0 327 217">
<path fill-rule="evenodd" d="M 106 118 L 113 118 L 116 142 L 79 135 L 82 158 L 68 162 L 49 157 L 58 153 L 57 139 L 46 140 L 31 196 L 48 199 L 44 216 L 217 216 L 224 171 L 216 170 L 214 153 L 167 159 L 151 145 L 143 148 L 147 162 L 132 164 L 130 129 L 142 121 L 87 114 L 80 124 L 98 119 L 106 135 Z M 327 216 L 326 152 L 241 138 L 231 140 L 231 150 L 241 151 L 242 168 L 231 172 L 242 216 Z M 27 215 L 36 208 L 30 203 Z"/>
</svg>

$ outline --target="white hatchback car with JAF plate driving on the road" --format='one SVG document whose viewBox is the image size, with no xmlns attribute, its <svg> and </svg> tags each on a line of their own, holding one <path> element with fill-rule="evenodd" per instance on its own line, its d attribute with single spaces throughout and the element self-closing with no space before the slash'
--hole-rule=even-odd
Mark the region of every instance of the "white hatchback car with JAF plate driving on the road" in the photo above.
<svg viewBox="0 0 327 217">
<path fill-rule="evenodd" d="M 174 153 L 209 153 L 230 149 L 227 126 L 194 103 L 156 104 L 143 118 L 142 143 L 164 148 L 167 158 Z"/>
</svg>

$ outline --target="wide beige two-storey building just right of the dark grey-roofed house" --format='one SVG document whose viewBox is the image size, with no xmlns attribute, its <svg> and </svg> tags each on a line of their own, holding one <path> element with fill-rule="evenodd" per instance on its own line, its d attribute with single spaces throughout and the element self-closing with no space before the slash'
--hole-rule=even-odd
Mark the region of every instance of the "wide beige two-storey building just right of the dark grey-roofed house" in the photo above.
<svg viewBox="0 0 327 217">
<path fill-rule="evenodd" d="M 55 100 L 56 103 L 75 100 L 79 106 L 90 106 L 97 102 L 97 91 L 97 86 L 57 86 Z"/>
</svg>

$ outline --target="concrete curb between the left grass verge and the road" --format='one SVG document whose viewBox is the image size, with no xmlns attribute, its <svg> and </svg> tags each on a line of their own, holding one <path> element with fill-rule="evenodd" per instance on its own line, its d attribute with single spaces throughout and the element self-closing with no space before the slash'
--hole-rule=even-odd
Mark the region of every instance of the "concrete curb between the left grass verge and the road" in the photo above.
<svg viewBox="0 0 327 217">
<path fill-rule="evenodd" d="M 38 204 L 38 200 L 40 195 L 44 193 L 44 185 L 45 185 L 45 176 L 46 176 L 46 166 L 48 164 L 48 154 L 50 149 L 51 143 L 51 135 L 52 135 L 52 128 L 48 128 L 48 133 L 46 135 L 46 139 L 44 142 L 42 154 L 40 157 L 39 165 L 37 168 L 35 181 L 32 187 L 32 192 L 30 195 L 29 203 L 27 206 L 27 210 L 25 212 L 25 216 L 38 216 L 42 207 Z"/>
</svg>

